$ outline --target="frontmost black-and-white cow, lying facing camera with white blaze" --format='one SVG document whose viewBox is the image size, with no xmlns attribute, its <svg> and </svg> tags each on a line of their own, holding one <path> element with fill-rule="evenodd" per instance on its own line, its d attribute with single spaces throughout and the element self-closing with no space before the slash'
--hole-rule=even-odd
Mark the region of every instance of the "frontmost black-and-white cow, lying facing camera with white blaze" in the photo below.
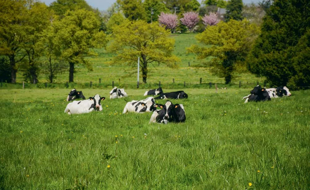
<svg viewBox="0 0 310 190">
<path fill-rule="evenodd" d="M 186 116 L 182 104 L 167 101 L 161 110 L 155 110 L 149 123 L 185 122 Z"/>
</svg>

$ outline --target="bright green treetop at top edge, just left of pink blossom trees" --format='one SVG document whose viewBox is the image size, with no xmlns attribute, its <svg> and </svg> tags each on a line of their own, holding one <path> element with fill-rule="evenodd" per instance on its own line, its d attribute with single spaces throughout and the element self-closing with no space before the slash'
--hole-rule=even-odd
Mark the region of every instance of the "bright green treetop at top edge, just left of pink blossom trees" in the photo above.
<svg viewBox="0 0 310 190">
<path fill-rule="evenodd" d="M 145 0 L 143 2 L 143 6 L 146 13 L 146 21 L 148 23 L 151 22 L 151 15 L 153 10 L 153 16 L 152 21 L 158 20 L 158 15 L 161 12 L 169 12 L 168 8 L 165 6 L 165 4 L 161 0 Z"/>
</svg>

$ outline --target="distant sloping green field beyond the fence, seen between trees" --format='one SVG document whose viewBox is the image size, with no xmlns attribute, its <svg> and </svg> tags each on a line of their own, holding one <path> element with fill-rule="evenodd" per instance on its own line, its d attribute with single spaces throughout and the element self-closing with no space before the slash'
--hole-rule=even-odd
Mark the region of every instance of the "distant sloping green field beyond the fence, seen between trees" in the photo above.
<svg viewBox="0 0 310 190">
<path fill-rule="evenodd" d="M 224 78 L 214 76 L 205 68 L 198 68 L 195 66 L 207 61 L 206 59 L 197 60 L 195 55 L 186 53 L 186 48 L 190 47 L 192 44 L 197 44 L 197 40 L 194 36 L 195 34 L 193 33 L 171 35 L 171 38 L 175 39 L 174 54 L 181 60 L 179 63 L 176 63 L 179 65 L 179 68 L 170 69 L 164 64 L 160 66 L 158 66 L 158 64 L 149 65 L 148 84 L 142 85 L 141 88 L 157 87 L 159 81 L 161 81 L 162 85 L 166 85 L 166 88 L 179 88 L 179 85 L 183 85 L 184 81 L 189 87 L 197 87 L 195 85 L 199 84 L 200 78 L 202 78 L 202 83 L 205 84 L 209 82 L 224 84 Z M 99 78 L 101 78 L 101 86 L 94 86 L 96 88 L 111 87 L 112 81 L 121 87 L 134 88 L 136 86 L 137 67 L 110 65 L 108 61 L 111 61 L 113 54 L 106 53 L 104 49 L 96 49 L 96 52 L 99 54 L 98 57 L 89 58 L 89 61 L 93 64 L 94 71 L 87 71 L 86 67 L 83 65 L 76 66 L 76 73 L 74 73 L 75 87 L 85 88 L 88 86 L 86 83 L 89 84 L 90 81 L 94 84 L 98 84 Z M 188 66 L 188 62 L 190 66 Z M 142 74 L 140 76 L 140 81 L 142 82 Z M 56 86 L 58 83 L 62 84 L 62 86 L 60 86 L 63 87 L 63 84 L 66 83 L 68 79 L 69 71 L 58 75 L 54 82 Z M 173 84 L 173 79 L 175 79 L 175 84 Z M 22 73 L 18 72 L 17 82 L 21 83 L 23 80 Z M 239 84 L 239 81 L 241 81 L 242 84 L 250 83 L 249 86 L 252 87 L 257 81 L 262 84 L 263 80 L 264 78 L 256 78 L 249 73 L 236 74 L 236 78 L 232 81 L 232 85 Z M 39 75 L 39 81 L 41 83 L 48 82 L 46 77 L 42 74 Z"/>
</svg>

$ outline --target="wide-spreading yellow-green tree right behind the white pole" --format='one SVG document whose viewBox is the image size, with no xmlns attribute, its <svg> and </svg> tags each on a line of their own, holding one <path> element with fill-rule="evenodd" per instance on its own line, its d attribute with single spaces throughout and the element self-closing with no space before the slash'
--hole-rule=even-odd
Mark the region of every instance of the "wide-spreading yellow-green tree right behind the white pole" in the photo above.
<svg viewBox="0 0 310 190">
<path fill-rule="evenodd" d="M 107 48 L 116 53 L 113 63 L 137 65 L 140 57 L 140 69 L 143 82 L 147 82 L 148 66 L 153 62 L 175 67 L 179 59 L 172 55 L 174 40 L 169 32 L 157 22 L 146 23 L 143 20 L 125 22 L 113 28 L 114 40 Z"/>
</svg>

